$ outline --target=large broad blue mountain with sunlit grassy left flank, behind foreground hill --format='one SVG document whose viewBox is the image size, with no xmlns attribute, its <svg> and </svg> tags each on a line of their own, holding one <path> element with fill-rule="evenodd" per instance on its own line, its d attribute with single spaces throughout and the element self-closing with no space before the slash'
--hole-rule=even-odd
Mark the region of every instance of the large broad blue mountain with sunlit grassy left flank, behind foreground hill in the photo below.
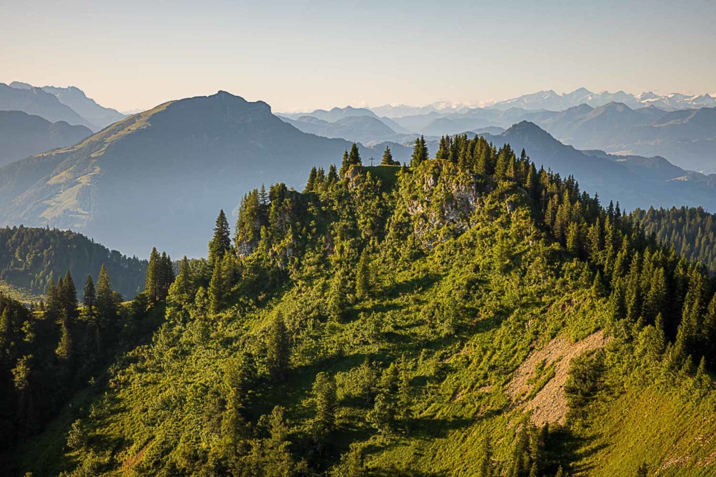
<svg viewBox="0 0 716 477">
<path fill-rule="evenodd" d="M 300 132 L 263 102 L 182 99 L 0 169 L 0 218 L 71 227 L 140 257 L 159 242 L 171 255 L 204 255 L 211 217 L 249 185 L 299 187 L 306 167 L 328 167 L 349 147 Z"/>
</svg>

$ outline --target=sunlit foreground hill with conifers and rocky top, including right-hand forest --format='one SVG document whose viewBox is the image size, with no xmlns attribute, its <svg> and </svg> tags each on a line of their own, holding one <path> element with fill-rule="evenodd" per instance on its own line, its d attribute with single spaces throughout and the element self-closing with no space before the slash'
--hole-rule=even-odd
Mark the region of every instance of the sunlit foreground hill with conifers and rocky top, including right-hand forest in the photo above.
<svg viewBox="0 0 716 477">
<path fill-rule="evenodd" d="M 117 358 L 8 468 L 710 475 L 707 268 L 524 151 L 458 136 L 435 156 L 421 138 L 410 167 L 364 167 L 354 145 L 303 192 L 248 193 L 233 236 L 221 211 L 208 260 L 176 277 L 154 251 L 145 292 L 112 315 Z M 55 326 L 52 359 L 70 309 L 37 313 Z M 540 359 L 553 349 L 576 357 Z"/>
</svg>

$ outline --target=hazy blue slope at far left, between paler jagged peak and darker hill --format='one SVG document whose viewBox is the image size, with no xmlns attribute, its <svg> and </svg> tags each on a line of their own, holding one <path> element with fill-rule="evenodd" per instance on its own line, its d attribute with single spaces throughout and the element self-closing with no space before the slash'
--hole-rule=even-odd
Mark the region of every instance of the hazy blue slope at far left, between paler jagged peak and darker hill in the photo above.
<svg viewBox="0 0 716 477">
<path fill-rule="evenodd" d="M 81 117 L 71 107 L 59 102 L 53 94 L 39 88 L 17 89 L 0 83 L 0 111 L 21 111 L 44 117 L 49 122 L 64 121 L 92 129 L 92 124 L 87 119 Z"/>
</svg>

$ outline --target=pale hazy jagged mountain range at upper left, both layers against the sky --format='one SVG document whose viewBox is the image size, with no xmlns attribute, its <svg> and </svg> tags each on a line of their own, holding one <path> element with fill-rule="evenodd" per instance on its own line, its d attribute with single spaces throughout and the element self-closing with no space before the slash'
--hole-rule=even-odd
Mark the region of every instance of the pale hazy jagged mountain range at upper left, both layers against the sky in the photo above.
<svg viewBox="0 0 716 477">
<path fill-rule="evenodd" d="M 51 122 L 81 124 L 94 132 L 127 117 L 115 109 L 100 106 L 77 87 L 37 88 L 22 82 L 11 82 L 9 86 L 0 84 L 0 109 L 36 114 Z"/>
</svg>

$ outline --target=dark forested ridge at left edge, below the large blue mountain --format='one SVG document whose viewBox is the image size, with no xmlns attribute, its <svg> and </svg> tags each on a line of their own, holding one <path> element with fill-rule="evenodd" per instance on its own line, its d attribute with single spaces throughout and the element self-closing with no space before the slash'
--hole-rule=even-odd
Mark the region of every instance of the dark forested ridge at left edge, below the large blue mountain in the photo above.
<svg viewBox="0 0 716 477">
<path fill-rule="evenodd" d="M 146 260 L 126 257 L 72 230 L 0 228 L 0 280 L 35 294 L 47 293 L 50 282 L 67 270 L 75 277 L 92 275 L 96 280 L 102 265 L 124 297 L 133 298 L 143 289 Z"/>
</svg>

